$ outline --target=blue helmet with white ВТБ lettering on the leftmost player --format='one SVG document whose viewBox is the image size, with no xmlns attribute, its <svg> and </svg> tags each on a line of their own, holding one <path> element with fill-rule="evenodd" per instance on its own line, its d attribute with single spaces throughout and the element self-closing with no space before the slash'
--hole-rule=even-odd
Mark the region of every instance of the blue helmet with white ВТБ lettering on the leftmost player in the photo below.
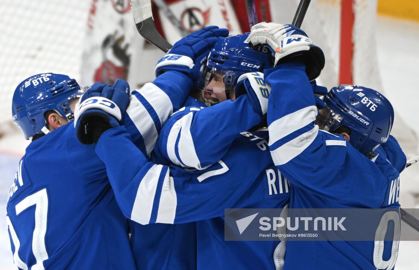
<svg viewBox="0 0 419 270">
<path fill-rule="evenodd" d="M 76 80 L 67 75 L 44 73 L 34 75 L 16 87 L 12 100 L 13 122 L 26 139 L 47 134 L 44 113 L 54 110 L 69 121 L 74 118 L 69 102 L 83 93 Z"/>
</svg>

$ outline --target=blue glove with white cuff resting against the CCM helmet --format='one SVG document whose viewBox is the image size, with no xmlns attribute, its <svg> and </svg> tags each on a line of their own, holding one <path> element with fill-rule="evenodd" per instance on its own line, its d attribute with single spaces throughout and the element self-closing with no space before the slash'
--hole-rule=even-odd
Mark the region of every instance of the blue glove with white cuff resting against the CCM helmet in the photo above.
<svg viewBox="0 0 419 270">
<path fill-rule="evenodd" d="M 157 77 L 168 70 L 188 74 L 195 82 L 201 77 L 202 64 L 207 62 L 209 51 L 220 39 L 228 36 L 228 29 L 208 26 L 190 33 L 177 41 L 165 57 L 157 62 L 154 69 Z"/>
</svg>

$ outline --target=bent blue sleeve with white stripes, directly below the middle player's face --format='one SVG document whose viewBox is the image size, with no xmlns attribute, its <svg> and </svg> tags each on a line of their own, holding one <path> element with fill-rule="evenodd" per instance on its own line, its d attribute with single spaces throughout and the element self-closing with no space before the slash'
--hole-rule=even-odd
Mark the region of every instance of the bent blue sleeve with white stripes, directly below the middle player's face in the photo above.
<svg viewBox="0 0 419 270">
<path fill-rule="evenodd" d="M 202 170 L 223 157 L 239 133 L 263 119 L 247 95 L 207 108 L 182 108 L 163 127 L 155 152 L 165 164 Z"/>
</svg>

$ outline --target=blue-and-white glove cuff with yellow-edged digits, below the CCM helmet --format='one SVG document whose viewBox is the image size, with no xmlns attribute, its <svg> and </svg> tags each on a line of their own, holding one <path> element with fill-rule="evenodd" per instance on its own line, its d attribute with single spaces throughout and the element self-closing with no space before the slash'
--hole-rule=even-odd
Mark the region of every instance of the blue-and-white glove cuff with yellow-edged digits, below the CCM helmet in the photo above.
<svg viewBox="0 0 419 270">
<path fill-rule="evenodd" d="M 268 98 L 271 92 L 271 87 L 264 82 L 263 78 L 264 75 L 261 72 L 245 73 L 238 77 L 235 87 L 236 99 L 247 93 L 253 109 L 260 115 L 268 110 Z"/>
</svg>

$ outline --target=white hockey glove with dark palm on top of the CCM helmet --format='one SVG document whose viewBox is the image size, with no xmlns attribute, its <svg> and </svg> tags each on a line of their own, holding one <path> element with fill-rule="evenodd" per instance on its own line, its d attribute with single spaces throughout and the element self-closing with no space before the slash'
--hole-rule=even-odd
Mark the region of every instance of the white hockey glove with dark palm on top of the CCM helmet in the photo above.
<svg viewBox="0 0 419 270">
<path fill-rule="evenodd" d="M 275 54 L 275 65 L 292 61 L 293 56 L 301 55 L 310 81 L 316 79 L 324 67 L 323 51 L 296 26 L 258 23 L 252 27 L 246 41 L 253 45 L 267 44 Z"/>
</svg>

